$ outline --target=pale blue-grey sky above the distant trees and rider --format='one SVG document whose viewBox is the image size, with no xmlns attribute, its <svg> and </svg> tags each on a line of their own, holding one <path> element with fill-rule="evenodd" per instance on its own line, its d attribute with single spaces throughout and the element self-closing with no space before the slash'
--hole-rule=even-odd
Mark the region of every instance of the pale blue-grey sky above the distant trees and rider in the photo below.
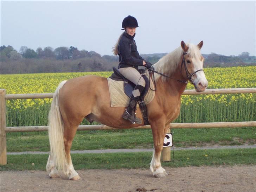
<svg viewBox="0 0 256 192">
<path fill-rule="evenodd" d="M 0 1 L 0 45 L 75 46 L 112 55 L 122 21 L 134 16 L 140 54 L 171 52 L 180 41 L 201 53 L 256 55 L 256 1 Z"/>
</svg>

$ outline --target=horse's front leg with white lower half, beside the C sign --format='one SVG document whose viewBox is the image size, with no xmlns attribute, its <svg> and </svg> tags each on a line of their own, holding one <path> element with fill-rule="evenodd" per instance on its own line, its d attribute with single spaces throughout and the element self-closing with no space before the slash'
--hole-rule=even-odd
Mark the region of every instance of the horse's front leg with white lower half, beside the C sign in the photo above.
<svg viewBox="0 0 256 192">
<path fill-rule="evenodd" d="M 166 177 L 168 175 L 164 168 L 161 167 L 161 152 L 163 149 L 164 138 L 169 126 L 165 127 L 165 121 L 151 123 L 151 129 L 154 140 L 154 152 L 151 160 L 150 169 L 154 177 Z"/>
</svg>

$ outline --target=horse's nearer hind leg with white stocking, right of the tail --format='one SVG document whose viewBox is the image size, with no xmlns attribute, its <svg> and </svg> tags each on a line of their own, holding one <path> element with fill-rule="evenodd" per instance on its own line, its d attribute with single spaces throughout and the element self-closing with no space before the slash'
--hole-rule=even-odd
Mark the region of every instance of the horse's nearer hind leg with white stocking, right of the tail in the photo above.
<svg viewBox="0 0 256 192">
<path fill-rule="evenodd" d="M 72 141 L 76 135 L 77 128 L 78 128 L 78 125 L 77 126 L 65 126 L 65 124 L 64 124 L 64 146 L 65 146 L 66 162 L 67 162 L 66 175 L 69 176 L 70 180 L 81 179 L 73 167 L 71 155 L 70 155 Z"/>
</svg>

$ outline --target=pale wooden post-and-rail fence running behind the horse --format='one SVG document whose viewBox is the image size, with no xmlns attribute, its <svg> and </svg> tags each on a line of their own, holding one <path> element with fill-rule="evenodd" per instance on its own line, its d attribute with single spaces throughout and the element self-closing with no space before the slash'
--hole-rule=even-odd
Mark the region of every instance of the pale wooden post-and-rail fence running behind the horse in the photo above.
<svg viewBox="0 0 256 192">
<path fill-rule="evenodd" d="M 195 90 L 185 90 L 183 95 L 205 95 L 205 94 L 239 94 L 256 93 L 256 88 L 234 88 L 234 89 L 206 89 L 204 92 Z M 52 98 L 53 93 L 45 94 L 11 94 L 6 95 L 5 89 L 0 89 L 0 165 L 7 164 L 6 155 L 6 132 L 40 132 L 47 131 L 48 126 L 30 127 L 6 127 L 6 100 L 12 99 L 36 99 Z M 256 127 L 256 121 L 249 122 L 214 122 L 214 123 L 171 123 L 172 129 L 175 128 L 220 128 L 220 127 Z M 150 125 L 140 126 L 131 129 L 149 129 Z M 105 125 L 84 125 L 79 126 L 78 130 L 111 130 L 116 129 Z M 170 160 L 171 147 L 165 147 L 162 160 Z"/>
</svg>

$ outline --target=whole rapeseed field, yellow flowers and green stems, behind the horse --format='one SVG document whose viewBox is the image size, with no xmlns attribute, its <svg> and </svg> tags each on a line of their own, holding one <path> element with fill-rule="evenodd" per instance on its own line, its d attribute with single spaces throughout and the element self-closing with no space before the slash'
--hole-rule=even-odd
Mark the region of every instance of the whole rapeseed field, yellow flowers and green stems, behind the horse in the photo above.
<svg viewBox="0 0 256 192">
<path fill-rule="evenodd" d="M 256 87 L 256 66 L 206 68 L 209 89 Z M 1 75 L 7 94 L 52 93 L 66 79 L 83 75 L 109 77 L 112 72 L 38 73 Z M 187 89 L 194 89 L 192 84 Z M 7 126 L 47 124 L 52 99 L 7 100 Z M 176 122 L 228 122 L 256 120 L 255 94 L 183 95 Z M 89 122 L 83 121 L 82 124 Z"/>
</svg>

